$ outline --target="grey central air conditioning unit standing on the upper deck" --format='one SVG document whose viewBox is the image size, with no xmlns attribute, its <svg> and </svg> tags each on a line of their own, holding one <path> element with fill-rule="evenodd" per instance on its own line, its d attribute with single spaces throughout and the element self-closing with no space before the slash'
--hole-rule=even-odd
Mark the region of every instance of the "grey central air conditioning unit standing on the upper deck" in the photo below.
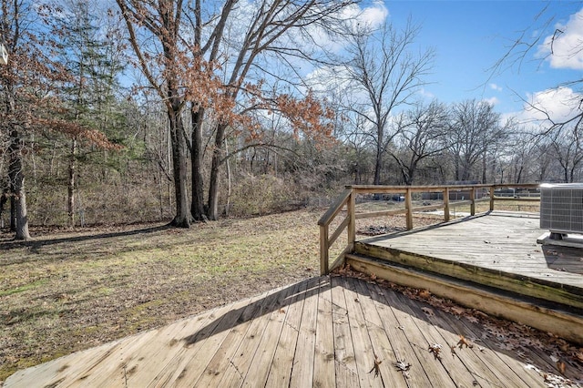
<svg viewBox="0 0 583 388">
<path fill-rule="evenodd" d="M 540 228 L 557 240 L 583 234 L 583 183 L 540 185 Z"/>
</svg>

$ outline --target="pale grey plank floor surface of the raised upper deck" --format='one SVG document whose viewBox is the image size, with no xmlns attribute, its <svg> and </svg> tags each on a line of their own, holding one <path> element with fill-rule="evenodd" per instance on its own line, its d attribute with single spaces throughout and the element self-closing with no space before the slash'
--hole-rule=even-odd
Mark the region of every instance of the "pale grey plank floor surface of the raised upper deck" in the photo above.
<svg viewBox="0 0 583 388">
<path fill-rule="evenodd" d="M 436 228 L 363 240 L 449 263 L 562 285 L 583 295 L 583 249 L 541 246 L 537 214 L 493 212 Z M 583 304 L 581 304 L 583 307 Z"/>
</svg>

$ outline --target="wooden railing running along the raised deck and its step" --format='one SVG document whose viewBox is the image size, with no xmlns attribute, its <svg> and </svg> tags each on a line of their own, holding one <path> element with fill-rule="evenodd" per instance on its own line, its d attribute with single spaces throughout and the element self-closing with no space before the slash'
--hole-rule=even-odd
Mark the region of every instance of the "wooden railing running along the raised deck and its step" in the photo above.
<svg viewBox="0 0 583 388">
<path fill-rule="evenodd" d="M 344 255 L 349 253 L 354 248 L 354 241 L 356 239 L 356 220 L 368 219 L 374 217 L 385 217 L 392 216 L 396 214 L 405 214 L 405 222 L 407 230 L 413 229 L 414 213 L 419 211 L 428 211 L 435 209 L 444 209 L 444 221 L 450 220 L 451 208 L 455 205 L 464 206 L 469 205 L 469 213 L 474 216 L 476 215 L 476 202 L 489 201 L 489 211 L 494 210 L 494 204 L 496 200 L 498 201 L 539 201 L 538 197 L 525 197 L 522 193 L 517 193 L 516 195 L 511 195 L 509 197 L 497 196 L 496 189 L 538 189 L 538 184 L 505 184 L 505 185 L 452 185 L 452 186 L 346 186 L 343 193 L 332 203 L 330 209 L 328 209 L 322 218 L 318 221 L 320 226 L 320 271 L 322 274 L 326 274 L 332 271 L 337 266 L 343 263 Z M 487 195 L 483 198 L 476 199 L 476 191 L 485 191 Z M 450 201 L 450 193 L 452 192 L 466 192 L 468 198 L 465 196 L 462 200 L 455 200 L 455 202 Z M 413 194 L 414 193 L 441 193 L 443 198 L 443 203 L 437 205 L 429 206 L 413 206 Z M 369 211 L 369 212 L 359 212 L 356 213 L 356 196 L 357 195 L 370 195 L 370 194 L 391 194 L 404 197 L 404 208 L 403 209 L 389 209 L 381 211 Z M 345 210 L 346 216 L 331 233 L 331 224 L 336 217 Z M 347 244 L 340 255 L 332 261 L 330 264 L 330 248 L 332 244 L 338 240 L 338 238 L 343 234 L 343 231 L 347 230 Z"/>
</svg>

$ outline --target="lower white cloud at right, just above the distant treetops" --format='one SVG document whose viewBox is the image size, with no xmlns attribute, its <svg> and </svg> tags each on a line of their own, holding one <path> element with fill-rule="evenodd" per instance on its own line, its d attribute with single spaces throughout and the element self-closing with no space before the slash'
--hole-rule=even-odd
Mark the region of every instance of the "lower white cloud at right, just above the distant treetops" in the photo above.
<svg viewBox="0 0 583 388">
<path fill-rule="evenodd" d="M 579 102 L 583 95 L 574 92 L 569 87 L 557 87 L 527 94 L 524 110 L 517 114 L 522 123 L 547 121 L 567 121 L 581 113 Z"/>
</svg>

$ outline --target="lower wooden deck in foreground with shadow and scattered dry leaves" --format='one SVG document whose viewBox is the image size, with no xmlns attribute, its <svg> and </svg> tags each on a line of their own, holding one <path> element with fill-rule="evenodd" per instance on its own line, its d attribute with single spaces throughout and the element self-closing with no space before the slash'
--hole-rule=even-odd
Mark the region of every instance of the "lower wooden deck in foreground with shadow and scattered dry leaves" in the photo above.
<svg viewBox="0 0 583 388">
<path fill-rule="evenodd" d="M 470 347 L 452 351 L 461 335 Z M 4 387 L 578 386 L 583 363 L 542 337 L 322 276 L 19 371 Z"/>
</svg>

